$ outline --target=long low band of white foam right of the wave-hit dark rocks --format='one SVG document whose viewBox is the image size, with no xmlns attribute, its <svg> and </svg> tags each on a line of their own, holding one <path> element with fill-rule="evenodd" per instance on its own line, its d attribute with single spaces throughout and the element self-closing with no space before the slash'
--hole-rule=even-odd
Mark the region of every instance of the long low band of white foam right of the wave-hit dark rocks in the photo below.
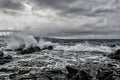
<svg viewBox="0 0 120 80">
<path fill-rule="evenodd" d="M 103 45 L 91 45 L 89 43 L 79 43 L 73 46 L 68 45 L 58 45 L 55 47 L 55 50 L 63 50 L 63 51 L 98 51 L 98 52 L 113 52 L 113 48 L 109 46 Z"/>
</svg>

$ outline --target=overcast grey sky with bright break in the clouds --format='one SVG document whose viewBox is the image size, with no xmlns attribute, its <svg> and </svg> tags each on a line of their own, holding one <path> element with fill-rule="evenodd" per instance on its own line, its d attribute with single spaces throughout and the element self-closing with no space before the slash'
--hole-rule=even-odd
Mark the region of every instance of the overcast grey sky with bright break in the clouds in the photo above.
<svg viewBox="0 0 120 80">
<path fill-rule="evenodd" d="M 0 0 L 0 30 L 64 39 L 116 39 L 120 0 Z"/>
</svg>

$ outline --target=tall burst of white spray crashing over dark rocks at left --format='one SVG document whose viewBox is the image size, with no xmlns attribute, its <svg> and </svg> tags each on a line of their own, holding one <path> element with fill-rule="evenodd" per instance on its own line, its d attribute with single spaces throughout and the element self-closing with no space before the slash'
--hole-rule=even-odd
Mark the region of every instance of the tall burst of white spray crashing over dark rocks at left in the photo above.
<svg viewBox="0 0 120 80">
<path fill-rule="evenodd" d="M 28 48 L 30 46 L 37 45 L 37 41 L 34 39 L 32 35 L 16 33 L 10 35 L 10 37 L 11 38 L 6 41 L 7 49 L 16 49 L 21 46 L 24 46 L 24 48 Z"/>
</svg>

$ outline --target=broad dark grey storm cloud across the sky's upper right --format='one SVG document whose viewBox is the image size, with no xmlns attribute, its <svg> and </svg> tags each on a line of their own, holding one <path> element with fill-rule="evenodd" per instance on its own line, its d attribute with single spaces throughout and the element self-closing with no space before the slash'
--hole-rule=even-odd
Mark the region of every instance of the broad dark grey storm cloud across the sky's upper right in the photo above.
<svg viewBox="0 0 120 80">
<path fill-rule="evenodd" d="M 101 16 L 115 12 L 117 0 L 97 1 L 97 0 L 35 0 L 39 7 L 52 8 L 59 10 L 62 16 L 67 15 L 84 15 L 84 16 Z M 78 4 L 79 3 L 79 4 Z M 104 8 L 104 6 L 108 6 Z M 109 6 L 111 5 L 111 6 Z M 98 8 L 97 8 L 98 7 Z M 94 8 L 96 8 L 94 10 Z"/>
</svg>

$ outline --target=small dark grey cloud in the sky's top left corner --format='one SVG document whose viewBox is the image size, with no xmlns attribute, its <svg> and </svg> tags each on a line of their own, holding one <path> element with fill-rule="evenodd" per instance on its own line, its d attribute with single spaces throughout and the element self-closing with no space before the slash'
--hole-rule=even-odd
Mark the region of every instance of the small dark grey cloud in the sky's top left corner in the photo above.
<svg viewBox="0 0 120 80">
<path fill-rule="evenodd" d="M 0 8 L 17 10 L 22 8 L 22 4 L 16 0 L 0 0 Z"/>
</svg>

